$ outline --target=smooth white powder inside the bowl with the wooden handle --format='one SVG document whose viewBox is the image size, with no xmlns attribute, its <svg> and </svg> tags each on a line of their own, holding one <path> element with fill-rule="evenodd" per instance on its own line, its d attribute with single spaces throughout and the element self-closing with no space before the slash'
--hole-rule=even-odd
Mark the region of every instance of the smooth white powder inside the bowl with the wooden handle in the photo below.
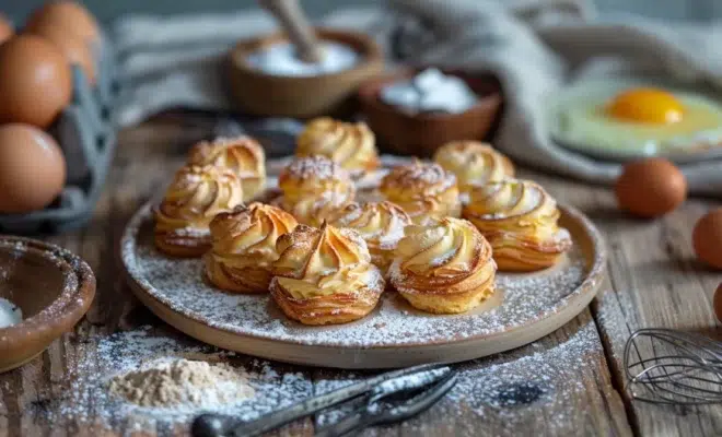
<svg viewBox="0 0 722 437">
<path fill-rule="evenodd" d="M 299 58 L 294 45 L 279 43 L 251 54 L 246 61 L 265 73 L 290 76 L 337 73 L 359 62 L 359 54 L 343 44 L 323 42 L 321 50 L 323 54 L 321 62 L 310 63 Z"/>
</svg>

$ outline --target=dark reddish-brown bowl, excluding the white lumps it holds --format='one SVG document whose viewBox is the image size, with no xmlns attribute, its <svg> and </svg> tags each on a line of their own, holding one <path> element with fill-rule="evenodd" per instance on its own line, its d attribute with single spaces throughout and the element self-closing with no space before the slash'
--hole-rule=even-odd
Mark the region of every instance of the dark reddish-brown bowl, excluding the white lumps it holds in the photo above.
<svg viewBox="0 0 722 437">
<path fill-rule="evenodd" d="M 497 121 L 501 107 L 501 85 L 490 74 L 470 75 L 458 70 L 441 69 L 464 80 L 479 102 L 461 114 L 407 114 L 381 101 L 384 86 L 412 78 L 422 69 L 401 70 L 373 79 L 361 85 L 361 110 L 380 142 L 392 152 L 431 156 L 450 141 L 484 140 Z"/>
</svg>

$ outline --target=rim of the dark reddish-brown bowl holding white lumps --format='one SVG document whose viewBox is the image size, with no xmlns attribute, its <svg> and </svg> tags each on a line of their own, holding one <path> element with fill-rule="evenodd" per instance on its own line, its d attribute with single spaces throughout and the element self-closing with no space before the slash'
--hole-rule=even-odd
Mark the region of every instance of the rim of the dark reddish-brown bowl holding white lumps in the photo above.
<svg viewBox="0 0 722 437">
<path fill-rule="evenodd" d="M 486 95 L 481 95 L 481 96 L 477 95 L 479 99 L 474 106 L 471 106 L 470 108 L 466 109 L 463 113 L 457 113 L 457 114 L 443 114 L 443 113 L 442 114 L 409 114 L 403 111 L 401 109 L 393 105 L 386 104 L 382 102 L 381 98 L 379 98 L 379 93 L 381 92 L 381 88 L 383 88 L 385 85 L 391 84 L 393 82 L 409 79 L 415 74 L 417 74 L 418 72 L 426 70 L 427 68 L 433 68 L 433 67 L 429 66 L 429 67 L 403 68 L 392 73 L 382 74 L 377 78 L 371 79 L 362 83 L 361 86 L 359 87 L 359 92 L 358 92 L 359 99 L 361 101 L 361 103 L 365 104 L 368 108 L 372 108 L 373 110 L 380 113 L 393 114 L 395 116 L 400 116 L 406 119 L 414 119 L 421 121 L 436 121 L 436 122 L 467 117 L 469 114 L 473 113 L 493 111 L 497 110 L 497 108 L 501 105 L 501 86 L 498 85 L 499 82 L 498 79 L 496 79 L 494 90 L 492 90 L 490 93 Z M 464 80 L 465 82 L 467 82 L 465 79 L 466 76 L 475 75 L 474 73 L 466 72 L 462 69 L 442 68 L 442 67 L 436 67 L 436 68 L 442 72 L 444 72 L 445 74 L 455 75 Z M 490 73 L 479 73 L 479 74 L 496 78 L 496 75 Z"/>
</svg>

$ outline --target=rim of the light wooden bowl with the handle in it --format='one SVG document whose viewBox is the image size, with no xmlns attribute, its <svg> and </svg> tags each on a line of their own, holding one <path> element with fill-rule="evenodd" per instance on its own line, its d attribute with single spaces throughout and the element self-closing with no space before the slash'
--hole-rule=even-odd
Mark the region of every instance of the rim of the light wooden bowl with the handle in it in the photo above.
<svg viewBox="0 0 722 437">
<path fill-rule="evenodd" d="M 316 74 L 316 75 L 282 75 L 282 74 L 268 74 L 258 70 L 248 62 L 246 58 L 248 55 L 260 47 L 265 47 L 271 44 L 278 44 L 280 42 L 288 42 L 288 36 L 282 32 L 276 32 L 270 35 L 257 36 L 248 39 L 242 39 L 233 46 L 229 52 L 229 60 L 231 69 L 235 72 L 243 73 L 247 76 L 253 76 L 256 79 L 269 79 L 275 81 L 288 81 L 288 82 L 303 82 L 303 81 L 316 81 L 316 80 L 336 80 L 343 78 L 348 74 L 354 74 L 360 71 L 364 71 L 371 66 L 374 66 L 379 62 L 383 63 L 383 51 L 379 44 L 369 35 L 361 32 L 353 32 L 348 29 L 339 29 L 331 27 L 314 27 L 316 34 L 321 39 L 329 39 L 334 42 L 341 42 L 348 45 L 348 42 L 353 42 L 353 48 L 361 48 L 359 51 L 362 55 L 361 60 L 353 66 L 352 68 L 337 71 L 335 73 L 327 74 Z"/>
</svg>

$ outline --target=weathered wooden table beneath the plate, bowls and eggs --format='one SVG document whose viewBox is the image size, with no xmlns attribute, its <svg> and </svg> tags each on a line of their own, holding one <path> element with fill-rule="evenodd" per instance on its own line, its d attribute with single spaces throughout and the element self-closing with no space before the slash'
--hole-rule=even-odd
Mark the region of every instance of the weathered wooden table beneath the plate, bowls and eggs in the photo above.
<svg viewBox="0 0 722 437">
<path fill-rule="evenodd" d="M 120 132 L 115 164 L 91 223 L 74 233 L 47 238 L 89 261 L 97 275 L 97 295 L 74 332 L 63 335 L 30 364 L 0 375 L 0 435 L 187 434 L 183 426 L 155 428 L 123 420 L 103 423 L 93 417 L 92 408 L 83 421 L 65 420 L 58 406 L 68 385 L 83 377 L 74 370 L 74 363 L 94 357 L 92 347 L 81 347 L 90 343 L 91 335 L 141 323 L 163 324 L 138 307 L 123 282 L 117 241 L 130 214 L 155 194 L 183 162 L 187 144 L 206 133 L 198 126 L 179 125 L 177 119 L 156 119 Z M 523 170 L 522 176 L 538 180 L 558 199 L 589 214 L 605 233 L 609 249 L 607 281 L 589 309 L 539 342 L 490 358 L 493 363 L 516 363 L 519 371 L 533 375 L 534 366 L 524 364 L 527 358 L 539 351 L 561 350 L 580 333 L 589 335 L 585 347 L 566 350 L 568 374 L 549 388 L 558 394 L 515 405 L 442 403 L 400 426 L 370 429 L 364 435 L 722 435 L 722 408 L 664 408 L 632 402 L 624 390 L 621 373 L 625 341 L 638 328 L 720 333 L 711 300 L 722 273 L 701 265 L 690 243 L 695 221 L 717 204 L 690 200 L 664 218 L 638 221 L 617 211 L 607 188 L 534 172 Z M 479 361 L 478 365 L 487 362 Z M 299 371 L 310 381 L 338 376 L 331 370 L 284 365 L 278 369 Z M 92 404 L 92 400 L 85 402 Z M 278 434 L 310 436 L 313 429 L 314 421 L 307 420 Z"/>
</svg>

